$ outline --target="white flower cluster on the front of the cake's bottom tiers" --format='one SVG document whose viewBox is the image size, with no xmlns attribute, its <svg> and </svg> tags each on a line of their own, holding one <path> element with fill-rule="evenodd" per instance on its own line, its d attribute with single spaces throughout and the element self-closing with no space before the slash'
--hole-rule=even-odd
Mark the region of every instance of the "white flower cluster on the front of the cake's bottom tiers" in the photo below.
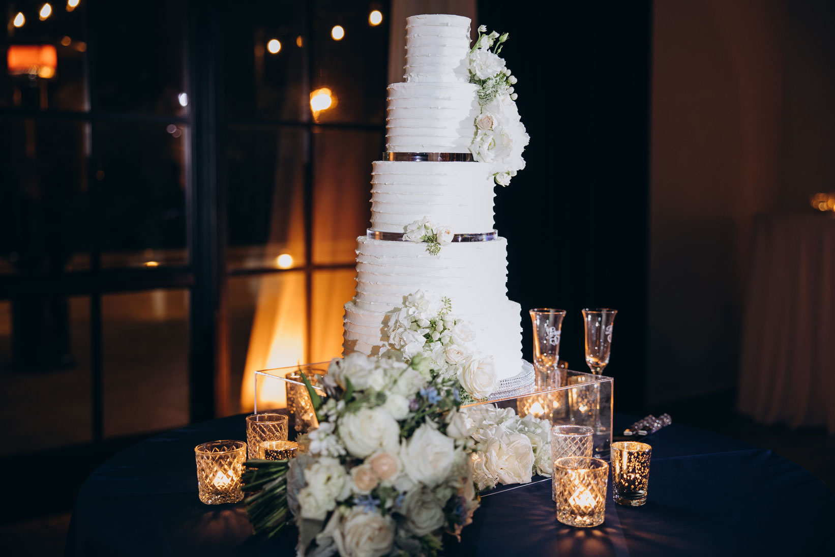
<svg viewBox="0 0 835 557">
<path fill-rule="evenodd" d="M 473 327 L 452 315 L 452 301 L 418 290 L 393 311 L 387 324 L 392 355 L 453 379 L 473 399 L 487 397 L 498 385 L 493 357 L 473 350 Z"/>
</svg>

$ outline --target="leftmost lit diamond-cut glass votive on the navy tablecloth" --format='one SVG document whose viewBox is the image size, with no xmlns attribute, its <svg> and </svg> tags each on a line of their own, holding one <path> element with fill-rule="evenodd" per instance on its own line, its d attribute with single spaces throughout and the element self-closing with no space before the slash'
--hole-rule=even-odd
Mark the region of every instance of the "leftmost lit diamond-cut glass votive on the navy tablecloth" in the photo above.
<svg viewBox="0 0 835 557">
<path fill-rule="evenodd" d="M 197 489 L 205 504 L 237 503 L 244 499 L 240 474 L 246 461 L 243 441 L 211 441 L 195 447 Z"/>
</svg>

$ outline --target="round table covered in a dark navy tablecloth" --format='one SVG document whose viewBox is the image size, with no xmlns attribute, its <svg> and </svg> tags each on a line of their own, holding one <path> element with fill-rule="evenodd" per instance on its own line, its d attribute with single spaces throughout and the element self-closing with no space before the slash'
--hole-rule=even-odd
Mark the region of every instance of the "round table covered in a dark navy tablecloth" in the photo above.
<svg viewBox="0 0 835 557">
<path fill-rule="evenodd" d="M 615 414 L 616 430 L 630 423 Z M 295 554 L 295 528 L 273 539 L 251 534 L 242 504 L 197 498 L 195 445 L 245 439 L 244 416 L 175 429 L 134 445 L 96 469 L 73 509 L 67 555 Z M 554 518 L 550 482 L 482 499 L 462 555 L 829 554 L 835 495 L 821 480 L 772 451 L 672 425 L 645 439 L 653 447 L 642 507 L 614 504 L 604 524 L 579 529 Z"/>
</svg>

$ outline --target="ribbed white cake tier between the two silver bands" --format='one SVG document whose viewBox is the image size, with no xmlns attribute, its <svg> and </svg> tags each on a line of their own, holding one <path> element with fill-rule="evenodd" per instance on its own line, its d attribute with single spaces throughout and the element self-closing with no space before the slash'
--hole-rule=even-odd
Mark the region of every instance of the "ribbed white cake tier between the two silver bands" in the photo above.
<svg viewBox="0 0 835 557">
<path fill-rule="evenodd" d="M 487 163 L 395 162 L 373 164 L 371 227 L 402 232 L 428 217 L 455 234 L 493 230 L 493 176 Z"/>
</svg>

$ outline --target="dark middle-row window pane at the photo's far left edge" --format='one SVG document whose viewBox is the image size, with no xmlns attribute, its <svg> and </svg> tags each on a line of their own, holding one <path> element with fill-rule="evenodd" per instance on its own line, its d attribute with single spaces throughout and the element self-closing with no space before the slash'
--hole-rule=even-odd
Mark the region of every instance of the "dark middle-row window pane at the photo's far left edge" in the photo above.
<svg viewBox="0 0 835 557">
<path fill-rule="evenodd" d="M 0 274 L 89 268 L 81 122 L 0 120 Z"/>
</svg>

